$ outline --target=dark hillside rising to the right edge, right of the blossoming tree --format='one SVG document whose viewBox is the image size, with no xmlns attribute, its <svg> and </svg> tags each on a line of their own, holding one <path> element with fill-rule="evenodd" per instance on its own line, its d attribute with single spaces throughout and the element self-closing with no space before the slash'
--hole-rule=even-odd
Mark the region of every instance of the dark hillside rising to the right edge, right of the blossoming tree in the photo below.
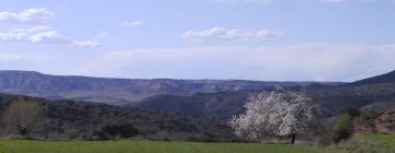
<svg viewBox="0 0 395 153">
<path fill-rule="evenodd" d="M 329 109 L 352 106 L 383 111 L 395 106 L 395 71 L 332 87 L 311 87 L 308 94 Z"/>
</svg>

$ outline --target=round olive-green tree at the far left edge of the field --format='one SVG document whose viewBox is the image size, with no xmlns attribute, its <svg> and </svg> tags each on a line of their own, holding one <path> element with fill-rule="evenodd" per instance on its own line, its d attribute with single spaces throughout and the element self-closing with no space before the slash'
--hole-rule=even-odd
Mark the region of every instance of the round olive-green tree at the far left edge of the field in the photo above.
<svg viewBox="0 0 395 153">
<path fill-rule="evenodd" d="M 34 102 L 16 101 L 8 106 L 3 122 L 9 131 L 30 137 L 32 130 L 42 123 L 43 108 Z"/>
</svg>

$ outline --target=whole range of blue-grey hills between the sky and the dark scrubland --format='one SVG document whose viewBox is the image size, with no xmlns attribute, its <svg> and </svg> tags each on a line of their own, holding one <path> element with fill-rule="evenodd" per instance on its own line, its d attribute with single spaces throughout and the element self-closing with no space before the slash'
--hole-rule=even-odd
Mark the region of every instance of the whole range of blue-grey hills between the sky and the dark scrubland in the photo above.
<svg viewBox="0 0 395 153">
<path fill-rule="evenodd" d="M 348 106 L 382 111 L 395 105 L 395 71 L 351 83 L 106 79 L 0 71 L 1 93 L 126 104 L 127 107 L 140 109 L 221 118 L 242 113 L 249 94 L 270 91 L 275 85 L 289 90 L 305 89 L 316 103 L 332 115 Z"/>
</svg>

